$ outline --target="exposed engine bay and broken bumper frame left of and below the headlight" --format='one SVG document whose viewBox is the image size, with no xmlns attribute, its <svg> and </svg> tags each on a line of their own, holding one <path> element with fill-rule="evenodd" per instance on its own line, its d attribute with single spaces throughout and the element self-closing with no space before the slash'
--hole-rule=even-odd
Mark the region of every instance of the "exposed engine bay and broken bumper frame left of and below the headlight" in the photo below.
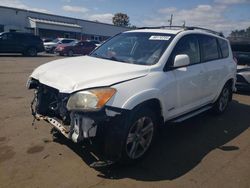
<svg viewBox="0 0 250 188">
<path fill-rule="evenodd" d="M 82 112 L 67 110 L 70 94 L 60 93 L 57 89 L 30 80 L 29 89 L 35 89 L 31 102 L 34 119 L 45 120 L 74 142 L 96 136 L 96 122 Z"/>
</svg>

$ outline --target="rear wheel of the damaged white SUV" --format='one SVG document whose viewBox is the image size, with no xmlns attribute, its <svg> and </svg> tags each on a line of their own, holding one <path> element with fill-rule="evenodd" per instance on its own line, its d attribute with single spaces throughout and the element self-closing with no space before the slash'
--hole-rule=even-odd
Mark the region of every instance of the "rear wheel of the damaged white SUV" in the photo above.
<svg viewBox="0 0 250 188">
<path fill-rule="evenodd" d="M 225 110 L 228 107 L 228 103 L 230 101 L 231 95 L 232 95 L 232 88 L 231 88 L 230 84 L 226 84 L 223 87 L 219 98 L 214 103 L 212 110 L 215 114 L 219 115 L 219 114 L 222 114 L 225 112 Z"/>
</svg>

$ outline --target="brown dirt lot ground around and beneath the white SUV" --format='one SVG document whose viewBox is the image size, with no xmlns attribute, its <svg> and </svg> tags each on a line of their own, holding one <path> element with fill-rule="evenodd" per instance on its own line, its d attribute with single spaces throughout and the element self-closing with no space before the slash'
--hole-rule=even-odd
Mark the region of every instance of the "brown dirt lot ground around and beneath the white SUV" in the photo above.
<svg viewBox="0 0 250 188">
<path fill-rule="evenodd" d="M 0 187 L 250 187 L 250 95 L 235 94 L 221 116 L 208 113 L 162 130 L 134 166 L 89 167 L 90 153 L 48 123 L 32 126 L 32 70 L 58 59 L 0 55 Z"/>
</svg>

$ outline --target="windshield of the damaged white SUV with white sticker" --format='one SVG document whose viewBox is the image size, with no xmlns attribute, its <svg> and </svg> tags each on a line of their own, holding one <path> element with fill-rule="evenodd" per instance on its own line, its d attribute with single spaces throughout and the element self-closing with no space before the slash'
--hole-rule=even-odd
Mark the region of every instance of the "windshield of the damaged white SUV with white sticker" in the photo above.
<svg viewBox="0 0 250 188">
<path fill-rule="evenodd" d="M 172 34 L 129 32 L 119 34 L 90 56 L 117 62 L 153 65 L 172 41 Z"/>
</svg>

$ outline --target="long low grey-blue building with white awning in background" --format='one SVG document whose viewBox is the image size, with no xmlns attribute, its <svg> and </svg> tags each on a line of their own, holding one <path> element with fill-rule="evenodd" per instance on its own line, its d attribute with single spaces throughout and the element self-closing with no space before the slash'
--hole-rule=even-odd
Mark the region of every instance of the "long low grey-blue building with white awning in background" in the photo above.
<svg viewBox="0 0 250 188">
<path fill-rule="evenodd" d="M 0 6 L 0 32 L 22 31 L 41 38 L 105 40 L 128 30 L 111 24 Z"/>
</svg>

